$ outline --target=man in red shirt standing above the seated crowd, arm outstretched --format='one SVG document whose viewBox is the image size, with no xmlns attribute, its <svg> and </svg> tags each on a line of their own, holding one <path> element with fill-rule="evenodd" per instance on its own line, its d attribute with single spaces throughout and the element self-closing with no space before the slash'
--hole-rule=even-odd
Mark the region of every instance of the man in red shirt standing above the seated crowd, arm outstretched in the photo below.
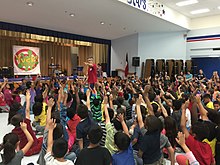
<svg viewBox="0 0 220 165">
<path fill-rule="evenodd" d="M 87 61 L 85 64 L 88 66 L 88 84 L 93 89 L 97 82 L 97 66 L 94 63 L 93 57 L 89 57 Z"/>
</svg>

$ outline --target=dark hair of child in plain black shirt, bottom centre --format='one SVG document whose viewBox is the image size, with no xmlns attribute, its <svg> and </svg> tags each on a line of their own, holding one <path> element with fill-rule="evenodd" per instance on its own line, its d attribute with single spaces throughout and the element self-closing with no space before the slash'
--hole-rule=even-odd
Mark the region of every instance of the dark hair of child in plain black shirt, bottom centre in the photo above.
<svg viewBox="0 0 220 165">
<path fill-rule="evenodd" d="M 103 131 L 102 128 L 98 125 L 93 125 L 88 133 L 89 141 L 92 144 L 98 144 L 102 139 Z"/>
</svg>

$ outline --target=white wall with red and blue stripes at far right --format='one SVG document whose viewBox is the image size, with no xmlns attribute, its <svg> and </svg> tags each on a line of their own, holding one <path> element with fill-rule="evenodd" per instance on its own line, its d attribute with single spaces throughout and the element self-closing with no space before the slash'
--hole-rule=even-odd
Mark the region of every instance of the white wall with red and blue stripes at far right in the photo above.
<svg viewBox="0 0 220 165">
<path fill-rule="evenodd" d="M 187 34 L 187 37 L 209 36 L 209 35 L 220 35 L 220 26 L 215 28 L 191 30 Z M 220 40 L 187 42 L 186 58 L 190 59 L 191 57 L 220 56 L 220 51 L 213 51 L 213 48 L 219 48 L 219 47 L 220 47 Z"/>
</svg>

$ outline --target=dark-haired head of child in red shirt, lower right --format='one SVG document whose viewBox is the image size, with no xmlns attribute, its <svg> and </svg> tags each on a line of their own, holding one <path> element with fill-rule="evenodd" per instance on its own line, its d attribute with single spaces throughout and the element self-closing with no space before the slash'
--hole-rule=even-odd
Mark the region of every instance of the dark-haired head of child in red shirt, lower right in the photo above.
<svg viewBox="0 0 220 165">
<path fill-rule="evenodd" d="M 192 134 L 195 139 L 202 142 L 205 138 L 209 136 L 209 127 L 203 121 L 197 121 L 192 125 Z"/>
</svg>

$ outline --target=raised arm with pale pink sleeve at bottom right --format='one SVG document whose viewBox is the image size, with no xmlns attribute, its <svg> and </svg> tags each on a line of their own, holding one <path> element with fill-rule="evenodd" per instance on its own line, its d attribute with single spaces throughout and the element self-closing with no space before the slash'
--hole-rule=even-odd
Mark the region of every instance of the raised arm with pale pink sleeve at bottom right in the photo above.
<svg viewBox="0 0 220 165">
<path fill-rule="evenodd" d="M 195 156 L 193 153 L 190 151 L 190 149 L 187 147 L 186 142 L 185 142 L 185 134 L 182 132 L 178 132 L 178 136 L 176 138 L 176 142 L 182 147 L 182 149 L 186 153 L 186 158 L 189 160 L 189 164 L 193 165 L 199 165 L 199 162 L 196 160 Z"/>
</svg>

